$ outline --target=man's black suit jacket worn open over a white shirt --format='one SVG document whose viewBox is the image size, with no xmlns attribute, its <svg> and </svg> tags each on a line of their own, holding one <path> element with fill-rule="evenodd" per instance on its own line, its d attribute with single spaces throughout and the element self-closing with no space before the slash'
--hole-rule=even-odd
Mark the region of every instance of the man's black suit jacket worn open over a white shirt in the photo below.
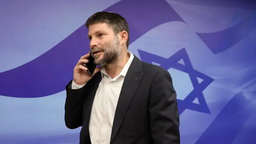
<svg viewBox="0 0 256 144">
<path fill-rule="evenodd" d="M 101 73 L 83 88 L 66 86 L 65 123 L 70 129 L 82 126 L 80 144 L 91 144 L 88 124 Z M 110 144 L 180 144 L 176 92 L 167 70 L 140 61 L 136 56 L 124 83 L 111 133 Z"/>
</svg>

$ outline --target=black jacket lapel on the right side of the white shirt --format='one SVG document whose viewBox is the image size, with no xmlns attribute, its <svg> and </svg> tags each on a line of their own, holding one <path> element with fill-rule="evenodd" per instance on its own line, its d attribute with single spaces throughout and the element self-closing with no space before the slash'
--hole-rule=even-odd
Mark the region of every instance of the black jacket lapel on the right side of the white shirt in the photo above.
<svg viewBox="0 0 256 144">
<path fill-rule="evenodd" d="M 110 143 L 114 140 L 124 116 L 128 110 L 130 102 L 140 84 L 144 71 L 142 71 L 142 62 L 134 56 L 132 63 L 128 69 L 128 72 L 124 78 L 124 83 L 120 92 L 118 103 L 116 106 L 116 112 L 112 127 Z"/>
</svg>

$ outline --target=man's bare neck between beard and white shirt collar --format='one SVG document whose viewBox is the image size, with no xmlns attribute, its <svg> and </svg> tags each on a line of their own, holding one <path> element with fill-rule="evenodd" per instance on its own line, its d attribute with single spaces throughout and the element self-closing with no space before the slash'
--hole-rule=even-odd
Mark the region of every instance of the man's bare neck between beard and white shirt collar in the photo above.
<svg viewBox="0 0 256 144">
<path fill-rule="evenodd" d="M 128 52 L 125 50 L 125 52 L 122 53 L 118 57 L 118 60 L 112 64 L 107 64 L 105 66 L 107 74 L 111 76 L 111 78 L 115 78 L 120 74 L 122 69 L 124 68 L 125 64 L 128 62 L 130 56 L 128 55 Z"/>
</svg>

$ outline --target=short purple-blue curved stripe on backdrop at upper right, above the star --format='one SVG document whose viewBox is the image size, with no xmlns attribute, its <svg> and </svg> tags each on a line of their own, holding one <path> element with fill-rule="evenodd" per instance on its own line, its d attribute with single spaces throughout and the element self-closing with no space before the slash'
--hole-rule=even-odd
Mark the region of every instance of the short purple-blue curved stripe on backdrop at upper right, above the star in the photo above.
<svg viewBox="0 0 256 144">
<path fill-rule="evenodd" d="M 255 16 L 250 16 L 246 20 L 226 30 L 214 33 L 197 33 L 197 35 L 214 54 L 218 54 L 228 50 L 245 38 L 252 30 L 255 30 L 255 22 Z"/>
</svg>

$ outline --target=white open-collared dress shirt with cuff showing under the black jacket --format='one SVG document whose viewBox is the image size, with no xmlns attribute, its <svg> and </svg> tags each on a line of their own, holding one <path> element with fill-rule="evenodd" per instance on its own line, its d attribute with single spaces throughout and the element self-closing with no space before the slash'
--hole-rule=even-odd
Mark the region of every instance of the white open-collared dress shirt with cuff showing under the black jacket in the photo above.
<svg viewBox="0 0 256 144">
<path fill-rule="evenodd" d="M 124 77 L 134 58 L 131 52 L 128 52 L 130 58 L 118 76 L 111 78 L 104 67 L 101 68 L 102 80 L 96 91 L 92 104 L 92 111 L 89 122 L 89 133 L 92 144 L 110 144 L 110 137 L 116 106 L 124 82 Z M 72 89 L 82 88 L 72 82 Z"/>
</svg>

